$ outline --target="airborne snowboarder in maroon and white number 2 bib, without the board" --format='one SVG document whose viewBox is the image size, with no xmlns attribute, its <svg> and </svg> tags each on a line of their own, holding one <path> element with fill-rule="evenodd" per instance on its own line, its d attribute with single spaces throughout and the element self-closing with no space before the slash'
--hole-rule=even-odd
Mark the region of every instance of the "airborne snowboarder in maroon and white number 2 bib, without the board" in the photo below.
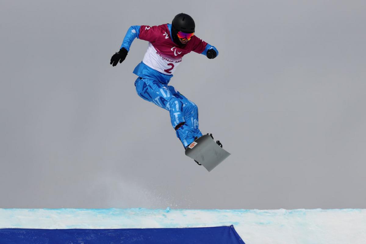
<svg viewBox="0 0 366 244">
<path fill-rule="evenodd" d="M 116 66 L 126 59 L 135 38 L 149 42 L 143 60 L 133 71 L 138 76 L 135 81 L 137 94 L 169 111 L 172 126 L 185 149 L 202 136 L 198 129 L 198 108 L 168 83 L 187 53 L 201 53 L 209 59 L 219 55 L 214 46 L 195 36 L 194 31 L 193 18 L 183 13 L 176 15 L 171 24 L 131 26 L 119 52 L 111 58 L 111 64 Z"/>
</svg>

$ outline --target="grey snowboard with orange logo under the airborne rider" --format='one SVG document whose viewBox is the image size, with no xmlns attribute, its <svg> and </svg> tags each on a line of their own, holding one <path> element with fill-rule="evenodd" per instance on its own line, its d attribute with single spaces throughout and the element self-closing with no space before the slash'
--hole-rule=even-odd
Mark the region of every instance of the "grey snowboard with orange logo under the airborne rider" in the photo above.
<svg viewBox="0 0 366 244">
<path fill-rule="evenodd" d="M 210 135 L 203 135 L 187 147 L 186 155 L 210 172 L 231 154 L 216 144 Z"/>
</svg>

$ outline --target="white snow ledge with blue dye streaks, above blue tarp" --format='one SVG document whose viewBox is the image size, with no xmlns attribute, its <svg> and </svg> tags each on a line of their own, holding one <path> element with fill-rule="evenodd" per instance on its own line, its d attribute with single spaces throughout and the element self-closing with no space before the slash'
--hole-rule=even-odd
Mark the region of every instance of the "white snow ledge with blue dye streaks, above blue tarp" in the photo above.
<svg viewBox="0 0 366 244">
<path fill-rule="evenodd" d="M 128 229 L 234 225 L 246 244 L 366 243 L 366 209 L 0 209 L 0 228 Z"/>
</svg>

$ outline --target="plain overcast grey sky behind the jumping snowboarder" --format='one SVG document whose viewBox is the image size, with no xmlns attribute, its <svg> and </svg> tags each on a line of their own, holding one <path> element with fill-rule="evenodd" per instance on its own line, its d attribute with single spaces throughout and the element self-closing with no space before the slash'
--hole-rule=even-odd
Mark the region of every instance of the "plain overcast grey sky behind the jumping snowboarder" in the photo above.
<svg viewBox="0 0 366 244">
<path fill-rule="evenodd" d="M 366 207 L 365 1 L 0 1 L 0 207 Z M 232 155 L 208 173 L 132 74 L 131 25 L 216 46 L 169 85 Z"/>
</svg>

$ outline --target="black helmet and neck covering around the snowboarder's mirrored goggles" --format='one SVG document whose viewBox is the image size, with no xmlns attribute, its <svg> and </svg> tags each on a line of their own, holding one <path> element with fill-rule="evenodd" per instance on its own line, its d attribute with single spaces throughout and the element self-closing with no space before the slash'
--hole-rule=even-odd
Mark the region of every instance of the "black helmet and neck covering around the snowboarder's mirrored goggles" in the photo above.
<svg viewBox="0 0 366 244">
<path fill-rule="evenodd" d="M 184 46 L 185 44 L 182 44 L 177 37 L 178 31 L 193 33 L 194 28 L 195 24 L 191 16 L 183 13 L 177 14 L 172 21 L 173 42 L 178 46 Z"/>
</svg>

